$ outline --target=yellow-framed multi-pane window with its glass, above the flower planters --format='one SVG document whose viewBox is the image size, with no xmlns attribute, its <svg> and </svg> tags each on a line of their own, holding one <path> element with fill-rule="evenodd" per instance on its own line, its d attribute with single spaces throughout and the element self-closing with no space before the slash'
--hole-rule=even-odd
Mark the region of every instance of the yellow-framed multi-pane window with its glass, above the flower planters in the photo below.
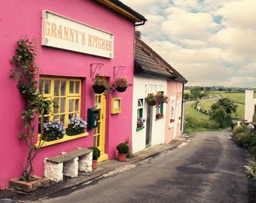
<svg viewBox="0 0 256 203">
<path fill-rule="evenodd" d="M 57 108 L 52 107 L 52 112 L 44 115 L 44 122 L 57 119 L 67 128 L 69 118 L 81 117 L 81 79 L 40 77 L 39 91 L 45 98 L 53 99 L 58 106 Z"/>
</svg>

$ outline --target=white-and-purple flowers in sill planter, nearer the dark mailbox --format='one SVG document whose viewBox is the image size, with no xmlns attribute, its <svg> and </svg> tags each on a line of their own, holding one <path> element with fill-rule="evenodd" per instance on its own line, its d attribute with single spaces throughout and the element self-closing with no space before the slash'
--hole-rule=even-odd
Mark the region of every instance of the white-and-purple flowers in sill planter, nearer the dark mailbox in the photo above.
<svg viewBox="0 0 256 203">
<path fill-rule="evenodd" d="M 66 134 L 69 136 L 72 135 L 79 135 L 81 133 L 84 133 L 84 129 L 87 127 L 87 122 L 83 120 L 82 118 L 70 118 L 69 119 L 69 126 L 66 129 Z"/>
</svg>

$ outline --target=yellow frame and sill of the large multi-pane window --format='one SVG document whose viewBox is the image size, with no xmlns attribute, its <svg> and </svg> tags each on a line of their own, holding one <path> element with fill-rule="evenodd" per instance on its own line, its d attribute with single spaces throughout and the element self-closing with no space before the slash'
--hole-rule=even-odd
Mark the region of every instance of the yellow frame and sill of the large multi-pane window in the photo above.
<svg viewBox="0 0 256 203">
<path fill-rule="evenodd" d="M 59 81 L 59 83 L 58 83 Z M 49 89 L 45 91 L 45 83 L 50 84 Z M 64 89 L 63 84 L 65 84 Z M 79 78 L 70 78 L 70 77 L 40 77 L 40 85 L 43 95 L 47 99 L 53 99 L 59 105 L 59 108 L 52 107 L 51 111 L 53 113 L 48 114 L 50 120 L 59 119 L 64 123 L 66 128 L 69 125 L 69 116 L 77 116 L 81 115 L 81 79 Z M 57 86 L 58 85 L 58 86 Z M 65 90 L 63 92 L 63 90 Z M 61 92 L 62 91 L 62 92 Z M 59 94 L 58 94 L 59 92 Z M 73 105 L 71 105 L 71 101 L 73 101 Z M 65 108 L 62 108 L 62 105 L 65 103 Z M 63 119 L 64 117 L 64 119 Z M 65 141 L 74 140 L 77 138 L 82 138 L 84 136 L 89 135 L 88 132 L 84 132 L 79 135 L 64 135 L 62 139 L 56 141 L 44 141 L 41 147 L 46 147 L 52 144 L 58 144 Z M 38 134 L 38 141 L 35 144 L 36 147 L 41 144 L 41 134 Z"/>
</svg>

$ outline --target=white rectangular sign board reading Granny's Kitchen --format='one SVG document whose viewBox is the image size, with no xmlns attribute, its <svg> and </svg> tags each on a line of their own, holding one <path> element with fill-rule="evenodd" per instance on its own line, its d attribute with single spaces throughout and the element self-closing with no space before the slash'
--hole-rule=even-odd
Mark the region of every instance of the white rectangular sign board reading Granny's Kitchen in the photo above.
<svg viewBox="0 0 256 203">
<path fill-rule="evenodd" d="M 64 50 L 114 57 L 114 35 L 50 11 L 42 14 L 41 44 Z"/>
</svg>

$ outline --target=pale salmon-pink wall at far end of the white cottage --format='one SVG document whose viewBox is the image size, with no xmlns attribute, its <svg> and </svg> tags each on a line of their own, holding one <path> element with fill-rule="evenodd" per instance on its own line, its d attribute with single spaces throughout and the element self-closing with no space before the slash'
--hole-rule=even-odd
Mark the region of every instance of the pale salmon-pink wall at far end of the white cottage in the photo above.
<svg viewBox="0 0 256 203">
<path fill-rule="evenodd" d="M 175 102 L 177 104 L 177 102 L 179 100 L 181 100 L 182 102 L 182 95 L 183 95 L 183 83 L 175 81 L 175 80 L 167 80 L 167 92 L 169 95 L 169 98 L 172 96 L 175 96 Z M 175 106 L 176 106 L 175 104 Z M 175 120 L 174 126 L 172 128 L 169 129 L 169 109 L 170 109 L 170 102 L 167 104 L 166 106 L 167 110 L 166 111 L 166 135 L 165 135 L 165 141 L 166 143 L 169 143 L 170 141 L 173 140 L 174 138 L 174 131 L 175 131 L 175 127 L 176 127 L 176 137 L 181 135 L 181 122 L 178 123 L 178 120 Z M 182 104 L 181 104 L 181 108 L 182 108 Z M 181 109 L 175 109 L 175 114 L 177 114 L 178 112 L 180 112 L 180 115 L 178 115 L 178 117 L 181 117 L 182 115 L 182 111 Z"/>
</svg>

